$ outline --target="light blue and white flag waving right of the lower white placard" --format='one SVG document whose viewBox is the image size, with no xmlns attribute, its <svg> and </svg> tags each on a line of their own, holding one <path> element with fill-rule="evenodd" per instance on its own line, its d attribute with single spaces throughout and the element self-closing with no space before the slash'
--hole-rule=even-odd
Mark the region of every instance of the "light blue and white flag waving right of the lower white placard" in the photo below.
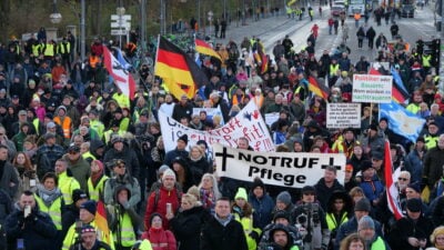
<svg viewBox="0 0 444 250">
<path fill-rule="evenodd" d="M 410 112 L 401 104 L 392 101 L 392 103 L 380 103 L 380 119 L 386 118 L 389 128 L 408 139 L 416 142 L 421 130 L 424 127 L 425 120 Z"/>
</svg>

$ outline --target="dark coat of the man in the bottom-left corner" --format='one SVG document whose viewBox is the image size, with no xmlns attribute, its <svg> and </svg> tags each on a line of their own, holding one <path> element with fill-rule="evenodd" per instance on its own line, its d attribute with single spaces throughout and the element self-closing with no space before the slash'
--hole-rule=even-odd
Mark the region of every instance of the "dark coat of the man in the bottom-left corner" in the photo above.
<svg viewBox="0 0 444 250">
<path fill-rule="evenodd" d="M 23 239 L 27 250 L 53 249 L 56 226 L 47 213 L 39 211 L 37 206 L 24 219 L 23 211 L 17 204 L 14 211 L 8 216 L 4 228 L 10 250 L 16 249 L 17 239 Z"/>
</svg>

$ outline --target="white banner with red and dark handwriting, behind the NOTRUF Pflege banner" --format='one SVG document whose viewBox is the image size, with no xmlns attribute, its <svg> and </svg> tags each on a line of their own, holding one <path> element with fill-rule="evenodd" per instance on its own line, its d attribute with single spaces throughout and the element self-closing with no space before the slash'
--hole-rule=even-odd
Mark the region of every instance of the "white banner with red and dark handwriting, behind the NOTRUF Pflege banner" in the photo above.
<svg viewBox="0 0 444 250">
<path fill-rule="evenodd" d="M 254 101 L 250 101 L 222 128 L 214 130 L 201 131 L 184 127 L 162 112 L 159 112 L 159 122 L 167 151 L 175 148 L 178 138 L 182 134 L 188 134 L 188 147 L 194 146 L 199 140 L 204 140 L 209 146 L 221 143 L 235 148 L 238 139 L 244 137 L 255 151 L 274 151 L 273 140 Z"/>
</svg>

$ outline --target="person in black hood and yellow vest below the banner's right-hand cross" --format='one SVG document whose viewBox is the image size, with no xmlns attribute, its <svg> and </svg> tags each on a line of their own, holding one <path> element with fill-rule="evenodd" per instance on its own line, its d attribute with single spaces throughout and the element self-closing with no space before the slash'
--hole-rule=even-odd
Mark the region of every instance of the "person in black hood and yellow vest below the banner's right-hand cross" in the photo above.
<svg viewBox="0 0 444 250">
<path fill-rule="evenodd" d="M 345 191 L 334 191 L 329 199 L 325 220 L 331 232 L 330 247 L 333 248 L 336 239 L 336 231 L 341 224 L 349 221 L 352 213 L 352 198 Z M 329 247 L 329 249 L 330 249 Z"/>
</svg>

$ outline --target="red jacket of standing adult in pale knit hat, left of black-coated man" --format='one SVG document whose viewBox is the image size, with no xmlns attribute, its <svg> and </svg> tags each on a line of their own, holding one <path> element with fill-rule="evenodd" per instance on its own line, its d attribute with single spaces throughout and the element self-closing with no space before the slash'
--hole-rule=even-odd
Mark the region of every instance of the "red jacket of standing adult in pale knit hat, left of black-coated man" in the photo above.
<svg viewBox="0 0 444 250">
<path fill-rule="evenodd" d="M 175 213 L 180 206 L 180 203 L 179 203 L 180 197 L 178 197 L 178 191 L 175 190 L 175 188 L 173 190 L 169 191 L 165 188 L 163 188 L 163 186 L 162 186 L 160 188 L 157 206 L 154 206 L 155 193 L 157 193 L 155 191 L 151 192 L 150 197 L 148 198 L 145 217 L 144 217 L 145 229 L 151 228 L 150 217 L 154 212 L 162 214 L 162 226 L 164 229 L 169 229 L 168 220 L 165 218 L 167 203 L 171 203 L 172 210 Z"/>
</svg>

